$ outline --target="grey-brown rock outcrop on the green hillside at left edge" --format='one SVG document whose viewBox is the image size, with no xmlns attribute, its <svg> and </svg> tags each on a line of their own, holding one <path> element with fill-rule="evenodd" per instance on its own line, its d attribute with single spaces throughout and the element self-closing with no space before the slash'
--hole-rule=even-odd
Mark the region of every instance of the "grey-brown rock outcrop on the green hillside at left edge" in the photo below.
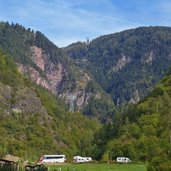
<svg viewBox="0 0 171 171">
<path fill-rule="evenodd" d="M 0 82 L 0 102 L 0 108 L 6 114 L 24 113 L 27 115 L 39 113 L 42 119 L 48 115 L 40 98 L 27 87 L 19 87 L 14 90 L 13 87 Z"/>
</svg>

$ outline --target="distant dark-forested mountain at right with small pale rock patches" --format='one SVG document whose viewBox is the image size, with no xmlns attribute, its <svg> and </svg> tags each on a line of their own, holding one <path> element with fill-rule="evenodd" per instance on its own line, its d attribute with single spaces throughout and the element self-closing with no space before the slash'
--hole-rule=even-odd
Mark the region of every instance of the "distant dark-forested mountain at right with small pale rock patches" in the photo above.
<svg viewBox="0 0 171 171">
<path fill-rule="evenodd" d="M 171 65 L 171 28 L 139 27 L 64 48 L 118 106 L 148 95 Z"/>
</svg>

